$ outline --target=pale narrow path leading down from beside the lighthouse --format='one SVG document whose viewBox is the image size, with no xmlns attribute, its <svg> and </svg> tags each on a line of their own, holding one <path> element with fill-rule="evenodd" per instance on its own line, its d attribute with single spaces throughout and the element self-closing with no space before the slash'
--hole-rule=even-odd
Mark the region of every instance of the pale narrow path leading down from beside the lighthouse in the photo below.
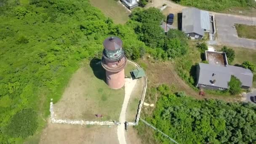
<svg viewBox="0 0 256 144">
<path fill-rule="evenodd" d="M 133 91 L 134 86 L 136 85 L 137 80 L 132 80 L 131 78 L 125 79 L 125 98 L 123 100 L 123 106 L 119 117 L 119 122 L 121 125 L 117 126 L 117 137 L 119 144 L 126 144 L 125 141 L 125 112 L 126 108 L 131 96 L 131 92 Z"/>
</svg>

